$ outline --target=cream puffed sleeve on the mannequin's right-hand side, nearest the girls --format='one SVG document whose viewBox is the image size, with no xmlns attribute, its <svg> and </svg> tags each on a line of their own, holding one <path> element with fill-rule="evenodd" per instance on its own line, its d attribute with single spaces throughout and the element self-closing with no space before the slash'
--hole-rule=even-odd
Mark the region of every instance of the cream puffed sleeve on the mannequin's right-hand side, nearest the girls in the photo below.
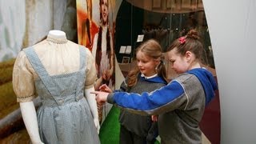
<svg viewBox="0 0 256 144">
<path fill-rule="evenodd" d="M 94 82 L 97 79 L 97 75 L 96 75 L 97 71 L 95 68 L 94 58 L 89 49 L 86 49 L 86 58 L 87 58 L 87 64 L 86 64 L 85 88 L 88 89 L 94 86 Z"/>
</svg>

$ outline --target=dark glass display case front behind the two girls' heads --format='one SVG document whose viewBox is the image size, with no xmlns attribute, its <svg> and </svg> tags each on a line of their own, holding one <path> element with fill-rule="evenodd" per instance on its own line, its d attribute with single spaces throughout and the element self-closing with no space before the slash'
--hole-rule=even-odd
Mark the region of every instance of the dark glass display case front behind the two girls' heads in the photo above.
<svg viewBox="0 0 256 144">
<path fill-rule="evenodd" d="M 200 0 L 154 0 L 151 3 L 122 1 L 116 22 L 115 51 L 119 64 L 127 62 L 124 59 L 129 57 L 130 68 L 134 66 L 134 50 L 141 43 L 138 42 L 139 35 L 144 36 L 143 41 L 149 38 L 157 39 L 163 52 L 166 52 L 174 39 L 185 35 L 190 29 L 196 29 L 201 34 L 205 48 L 203 64 L 215 67 L 206 15 Z M 127 46 L 131 49 L 130 53 L 126 53 Z M 168 68 L 168 65 L 166 67 Z M 170 71 L 168 73 L 171 74 L 170 79 L 175 76 Z"/>
</svg>

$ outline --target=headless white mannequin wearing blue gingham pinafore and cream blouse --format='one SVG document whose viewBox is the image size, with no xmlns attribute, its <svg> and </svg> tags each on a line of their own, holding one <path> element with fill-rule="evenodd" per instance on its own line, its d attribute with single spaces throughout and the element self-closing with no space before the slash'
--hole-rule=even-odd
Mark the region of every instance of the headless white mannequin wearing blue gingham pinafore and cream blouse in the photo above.
<svg viewBox="0 0 256 144">
<path fill-rule="evenodd" d="M 50 30 L 23 49 L 13 72 L 14 92 L 33 143 L 100 143 L 94 94 L 96 69 L 90 50 Z M 41 98 L 36 111 L 32 100 Z M 40 137 L 39 137 L 40 136 Z"/>
</svg>

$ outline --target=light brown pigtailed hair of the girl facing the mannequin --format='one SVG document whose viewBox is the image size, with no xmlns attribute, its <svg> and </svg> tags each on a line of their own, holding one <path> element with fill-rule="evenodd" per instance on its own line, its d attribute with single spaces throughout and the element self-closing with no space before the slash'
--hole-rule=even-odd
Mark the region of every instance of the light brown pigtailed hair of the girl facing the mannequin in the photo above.
<svg viewBox="0 0 256 144">
<path fill-rule="evenodd" d="M 149 39 L 146 42 L 142 42 L 140 46 L 136 49 L 136 54 L 138 51 L 141 51 L 142 53 L 146 54 L 150 58 L 154 59 L 160 59 L 160 64 L 157 67 L 157 74 L 158 76 L 164 78 L 167 82 L 167 76 L 166 76 L 166 67 L 164 66 L 164 55 L 162 54 L 162 48 L 160 44 L 154 40 L 154 39 Z M 140 71 L 138 70 L 138 66 L 134 67 L 134 70 L 131 70 L 130 73 L 128 74 L 128 86 L 134 86 L 136 85 L 138 81 L 138 74 Z"/>
</svg>

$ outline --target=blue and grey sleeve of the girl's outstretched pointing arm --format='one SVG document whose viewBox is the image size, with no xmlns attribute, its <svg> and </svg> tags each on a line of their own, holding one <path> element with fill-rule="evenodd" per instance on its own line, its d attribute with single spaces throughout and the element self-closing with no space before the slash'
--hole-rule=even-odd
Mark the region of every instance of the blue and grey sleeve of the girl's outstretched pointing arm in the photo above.
<svg viewBox="0 0 256 144">
<path fill-rule="evenodd" d="M 173 81 L 150 93 L 115 92 L 109 94 L 107 101 L 135 114 L 152 115 L 177 109 L 186 104 L 187 99 L 182 85 Z"/>
</svg>

